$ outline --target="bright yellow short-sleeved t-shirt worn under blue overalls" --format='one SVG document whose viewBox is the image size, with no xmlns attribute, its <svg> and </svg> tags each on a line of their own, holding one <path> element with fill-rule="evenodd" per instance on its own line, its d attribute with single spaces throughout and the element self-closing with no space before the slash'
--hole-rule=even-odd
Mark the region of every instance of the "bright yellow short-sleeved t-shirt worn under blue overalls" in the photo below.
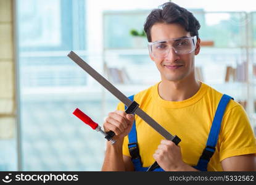
<svg viewBox="0 0 256 185">
<path fill-rule="evenodd" d="M 202 83 L 199 91 L 189 99 L 179 102 L 165 101 L 159 96 L 159 83 L 134 95 L 134 101 L 157 123 L 173 135 L 181 138 L 179 146 L 183 161 L 195 166 L 205 148 L 213 117 L 223 94 Z M 120 102 L 117 110 L 124 110 Z M 137 115 L 136 131 L 142 167 L 149 167 L 153 154 L 164 139 Z M 221 160 L 245 154 L 256 154 L 255 136 L 243 107 L 229 101 L 215 153 L 208 164 L 208 171 L 222 171 Z M 130 156 L 128 136 L 123 142 L 123 155 Z"/>
</svg>

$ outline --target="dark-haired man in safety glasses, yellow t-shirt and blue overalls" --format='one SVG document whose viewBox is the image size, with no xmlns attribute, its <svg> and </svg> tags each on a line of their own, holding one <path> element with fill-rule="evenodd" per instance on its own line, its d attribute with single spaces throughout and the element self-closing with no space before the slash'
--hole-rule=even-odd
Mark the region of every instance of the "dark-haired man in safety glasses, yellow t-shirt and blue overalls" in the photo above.
<svg viewBox="0 0 256 185">
<path fill-rule="evenodd" d="M 164 139 L 137 115 L 126 114 L 120 103 L 104 122 L 105 131 L 114 131 L 117 142 L 107 142 L 102 171 L 145 171 L 154 161 L 165 171 L 255 170 L 255 136 L 246 112 L 228 97 L 225 112 L 218 116 L 223 94 L 195 78 L 199 28 L 191 12 L 172 2 L 148 15 L 144 31 L 150 57 L 162 81 L 135 94 L 134 101 L 167 131 L 181 138 L 181 142 L 176 146 Z M 217 121 L 220 129 L 213 125 L 215 117 L 222 119 Z M 131 130 L 133 125 L 135 130 Z M 213 134 L 216 143 L 212 146 L 212 139 L 208 139 L 211 129 L 218 130 Z M 138 144 L 131 144 L 131 137 Z M 139 151 L 136 156 L 130 151 L 134 147 Z M 204 168 L 199 167 L 201 163 Z"/>
</svg>

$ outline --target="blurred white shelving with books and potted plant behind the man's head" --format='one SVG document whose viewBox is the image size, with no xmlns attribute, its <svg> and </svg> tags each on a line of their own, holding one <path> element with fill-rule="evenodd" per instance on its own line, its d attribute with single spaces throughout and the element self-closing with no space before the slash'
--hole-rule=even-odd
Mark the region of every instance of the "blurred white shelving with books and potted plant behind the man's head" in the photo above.
<svg viewBox="0 0 256 185">
<path fill-rule="evenodd" d="M 147 46 L 136 47 L 129 31 L 141 30 L 150 10 L 105 11 L 103 13 L 103 59 L 104 73 L 111 81 L 109 68 L 115 68 L 117 81 L 115 85 L 126 96 L 146 89 L 160 81 L 160 75 L 154 62 L 148 56 Z M 256 84 L 255 41 L 250 44 L 249 38 L 256 38 L 255 13 L 246 12 L 204 12 L 191 10 L 201 24 L 200 54 L 195 58 L 196 76 L 220 92 L 229 94 L 246 109 L 252 126 L 256 126 L 254 85 Z M 244 16 L 250 22 L 244 23 Z M 219 20 L 211 24 L 211 19 Z M 133 20 L 133 21 L 131 21 Z M 254 25 L 251 25 L 254 23 Z M 146 40 L 146 38 L 144 38 Z M 256 39 L 255 39 L 256 40 Z M 254 49 L 254 51 L 252 51 Z M 123 72 L 125 70 L 125 72 Z M 123 73 L 126 77 L 120 77 Z M 109 74 L 109 75 L 107 75 Z M 119 74 L 119 75 L 118 75 Z M 127 77 L 128 76 L 128 77 Z M 120 78 L 126 78 L 122 80 Z M 127 80 L 127 78 L 129 80 Z M 111 97 L 105 94 L 105 109 L 114 110 L 109 105 Z M 113 101 L 112 104 L 115 103 Z M 116 101 L 118 102 L 118 101 Z M 110 106 L 110 107 L 109 107 Z"/>
</svg>

